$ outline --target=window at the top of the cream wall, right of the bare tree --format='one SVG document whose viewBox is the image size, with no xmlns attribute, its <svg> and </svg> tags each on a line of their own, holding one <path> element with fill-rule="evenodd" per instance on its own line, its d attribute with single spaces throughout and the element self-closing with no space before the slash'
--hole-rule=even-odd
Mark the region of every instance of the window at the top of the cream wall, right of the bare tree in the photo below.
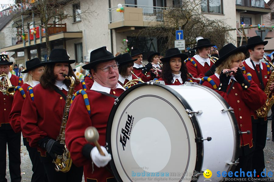
<svg viewBox="0 0 274 182">
<path fill-rule="evenodd" d="M 201 4 L 202 12 L 223 13 L 222 0 L 203 0 Z"/>
</svg>

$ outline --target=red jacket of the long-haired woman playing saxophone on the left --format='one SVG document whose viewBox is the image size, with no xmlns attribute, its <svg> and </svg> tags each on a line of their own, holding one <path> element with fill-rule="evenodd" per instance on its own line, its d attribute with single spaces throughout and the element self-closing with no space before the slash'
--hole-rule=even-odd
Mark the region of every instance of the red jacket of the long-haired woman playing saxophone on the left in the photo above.
<svg viewBox="0 0 274 182">
<path fill-rule="evenodd" d="M 77 84 L 75 91 L 83 89 L 82 84 Z M 61 90 L 65 95 L 67 91 Z M 48 136 L 57 139 L 65 107 L 65 99 L 56 91 L 44 89 L 40 84 L 33 87 L 34 100 L 26 94 L 21 112 L 21 129 L 31 147 L 37 147 L 41 156 L 46 156 L 46 151 L 38 146 L 38 141 Z"/>
</svg>

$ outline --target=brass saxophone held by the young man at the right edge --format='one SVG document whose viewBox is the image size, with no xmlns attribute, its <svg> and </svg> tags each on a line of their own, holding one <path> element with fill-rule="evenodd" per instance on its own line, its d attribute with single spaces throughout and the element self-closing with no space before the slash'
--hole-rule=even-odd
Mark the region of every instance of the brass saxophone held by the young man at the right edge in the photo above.
<svg viewBox="0 0 274 182">
<path fill-rule="evenodd" d="M 265 61 L 274 68 L 274 65 L 270 63 L 269 60 L 265 59 Z M 274 103 L 274 94 L 272 94 L 271 90 L 269 89 L 269 86 L 273 83 L 273 81 L 274 81 L 274 71 L 272 71 L 264 90 L 267 96 L 265 104 L 261 108 L 256 110 L 256 115 L 260 118 L 264 118 L 267 116 L 269 110 L 271 109 Z"/>
</svg>

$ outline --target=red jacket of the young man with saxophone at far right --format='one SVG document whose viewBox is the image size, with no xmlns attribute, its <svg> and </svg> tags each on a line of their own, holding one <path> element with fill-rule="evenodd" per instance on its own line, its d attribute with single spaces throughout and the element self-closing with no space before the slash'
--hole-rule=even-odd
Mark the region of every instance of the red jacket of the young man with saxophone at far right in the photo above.
<svg viewBox="0 0 274 182">
<path fill-rule="evenodd" d="M 249 67 L 245 61 L 243 62 L 243 64 L 244 64 L 244 67 L 245 67 L 245 74 L 250 73 L 252 75 L 252 80 L 258 85 L 258 87 L 260 89 L 262 89 L 259 78 L 256 74 L 256 71 L 253 70 L 251 67 Z M 258 70 L 258 73 L 260 74 L 260 72 L 259 72 L 260 67 L 259 66 L 260 66 L 260 64 L 255 65 L 255 67 Z M 262 62 L 262 67 L 263 67 L 263 69 L 262 69 L 262 81 L 264 83 L 264 88 L 265 88 L 266 84 L 267 84 L 267 79 L 269 79 L 269 76 L 270 76 L 271 72 L 269 72 L 269 74 L 267 73 L 266 64 L 263 63 L 263 62 Z M 256 112 L 254 110 L 251 111 L 251 116 L 253 116 L 255 119 L 258 119 L 258 116 L 256 115 Z M 265 117 L 264 120 L 267 121 L 267 117 Z"/>
</svg>

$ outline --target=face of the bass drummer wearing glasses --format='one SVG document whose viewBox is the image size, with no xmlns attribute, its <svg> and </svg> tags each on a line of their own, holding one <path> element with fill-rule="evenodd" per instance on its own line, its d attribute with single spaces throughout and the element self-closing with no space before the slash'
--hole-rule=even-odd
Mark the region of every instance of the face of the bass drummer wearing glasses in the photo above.
<svg viewBox="0 0 274 182">
<path fill-rule="evenodd" d="M 116 84 L 118 82 L 119 78 L 119 71 L 118 69 L 113 69 L 112 67 L 109 67 L 108 71 L 103 71 L 100 68 L 104 68 L 105 66 L 115 65 L 116 61 L 111 60 L 105 63 L 100 63 L 96 66 L 97 71 L 91 70 L 92 76 L 97 83 L 102 85 L 103 87 L 107 88 L 116 88 Z"/>
</svg>

